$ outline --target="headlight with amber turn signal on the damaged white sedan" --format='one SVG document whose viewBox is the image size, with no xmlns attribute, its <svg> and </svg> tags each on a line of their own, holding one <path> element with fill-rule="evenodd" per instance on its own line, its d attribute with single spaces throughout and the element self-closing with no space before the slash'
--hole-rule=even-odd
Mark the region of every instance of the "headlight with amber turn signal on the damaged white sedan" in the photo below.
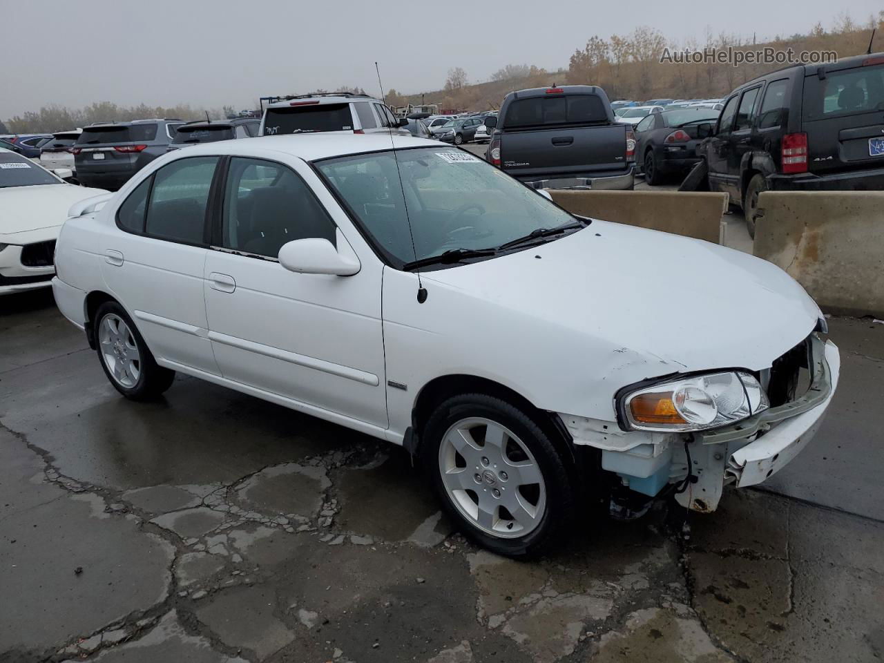
<svg viewBox="0 0 884 663">
<path fill-rule="evenodd" d="M 621 396 L 619 409 L 636 431 L 705 431 L 770 408 L 767 394 L 742 370 L 665 380 Z"/>
</svg>

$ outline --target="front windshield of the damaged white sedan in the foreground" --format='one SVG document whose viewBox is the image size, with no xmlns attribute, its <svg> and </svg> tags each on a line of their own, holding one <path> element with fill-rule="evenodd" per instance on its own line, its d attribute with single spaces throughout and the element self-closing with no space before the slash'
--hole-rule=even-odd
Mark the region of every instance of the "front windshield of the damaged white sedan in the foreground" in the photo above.
<svg viewBox="0 0 884 663">
<path fill-rule="evenodd" d="M 389 150 L 325 159 L 316 167 L 397 266 L 459 248 L 499 247 L 539 228 L 575 222 L 543 196 L 459 149 L 400 149 L 396 156 L 401 187 Z"/>
</svg>

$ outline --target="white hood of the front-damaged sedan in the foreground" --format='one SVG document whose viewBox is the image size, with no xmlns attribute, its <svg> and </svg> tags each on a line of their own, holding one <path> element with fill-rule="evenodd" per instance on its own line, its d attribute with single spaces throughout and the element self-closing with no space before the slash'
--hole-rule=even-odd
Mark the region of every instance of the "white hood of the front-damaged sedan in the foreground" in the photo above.
<svg viewBox="0 0 884 663">
<path fill-rule="evenodd" d="M 599 220 L 536 248 L 422 276 L 481 300 L 476 310 L 505 312 L 508 335 L 529 334 L 523 343 L 585 339 L 595 370 L 629 367 L 624 384 L 673 372 L 766 369 L 821 316 L 773 263 Z M 577 362 L 590 359 L 575 352 Z"/>
</svg>

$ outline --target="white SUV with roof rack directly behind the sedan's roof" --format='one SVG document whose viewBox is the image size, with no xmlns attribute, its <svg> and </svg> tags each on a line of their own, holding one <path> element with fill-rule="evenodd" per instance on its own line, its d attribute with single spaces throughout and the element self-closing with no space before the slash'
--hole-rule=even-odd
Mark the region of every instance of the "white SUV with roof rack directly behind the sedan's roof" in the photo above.
<svg viewBox="0 0 884 663">
<path fill-rule="evenodd" d="M 259 135 L 286 133 L 393 133 L 411 135 L 408 120 L 396 118 L 387 105 L 369 95 L 347 92 L 301 96 L 266 96 Z"/>
</svg>

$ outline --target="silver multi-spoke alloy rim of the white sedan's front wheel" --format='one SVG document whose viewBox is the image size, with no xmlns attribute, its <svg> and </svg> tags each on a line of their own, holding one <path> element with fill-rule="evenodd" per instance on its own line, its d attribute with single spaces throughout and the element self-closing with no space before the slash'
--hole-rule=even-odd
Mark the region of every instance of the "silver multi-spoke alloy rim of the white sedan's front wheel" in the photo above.
<svg viewBox="0 0 884 663">
<path fill-rule="evenodd" d="M 439 445 L 439 471 L 454 507 L 486 534 L 523 537 L 543 518 L 546 486 L 537 460 L 499 423 L 455 423 Z"/>
</svg>

